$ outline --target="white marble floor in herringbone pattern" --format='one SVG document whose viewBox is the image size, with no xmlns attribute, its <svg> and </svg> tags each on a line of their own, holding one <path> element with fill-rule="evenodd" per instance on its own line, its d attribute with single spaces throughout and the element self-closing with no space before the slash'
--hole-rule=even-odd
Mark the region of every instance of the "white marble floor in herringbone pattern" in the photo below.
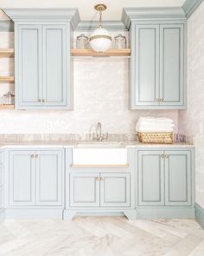
<svg viewBox="0 0 204 256">
<path fill-rule="evenodd" d="M 204 256 L 204 230 L 194 220 L 5 220 L 0 255 Z"/>
</svg>

